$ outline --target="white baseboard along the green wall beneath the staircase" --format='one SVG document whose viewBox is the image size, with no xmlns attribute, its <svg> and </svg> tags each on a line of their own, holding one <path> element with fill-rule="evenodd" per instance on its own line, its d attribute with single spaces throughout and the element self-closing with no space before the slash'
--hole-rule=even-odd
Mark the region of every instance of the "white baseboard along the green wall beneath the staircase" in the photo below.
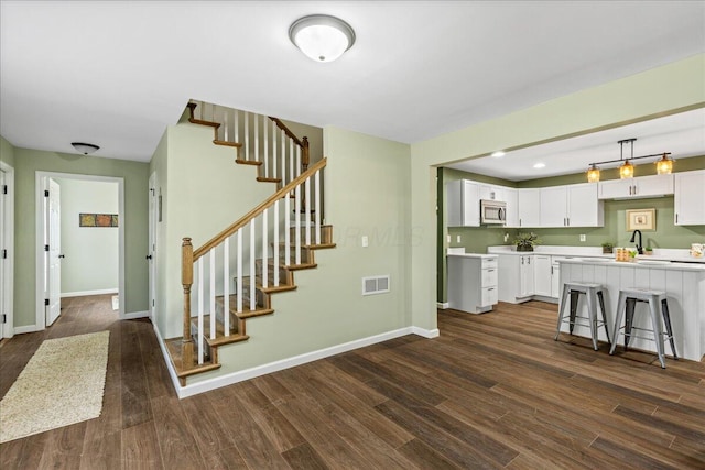
<svg viewBox="0 0 705 470">
<path fill-rule="evenodd" d="M 156 328 L 156 327 L 155 327 Z M 330 356 L 339 354 L 341 352 L 351 351 L 354 349 L 364 348 L 366 346 L 376 345 L 378 342 L 387 341 L 390 339 L 399 338 L 406 335 L 419 335 L 424 338 L 435 338 L 438 336 L 438 330 L 427 330 L 419 327 L 405 327 L 397 330 L 383 332 L 380 335 L 370 336 L 367 338 L 357 339 L 354 341 L 344 342 L 341 345 L 332 346 L 329 348 L 318 349 L 317 351 L 306 352 L 303 354 L 294 356 L 292 358 L 282 359 L 279 361 L 270 362 L 269 364 L 258 365 L 254 368 L 246 369 L 238 372 L 220 375 L 214 379 L 207 379 L 200 382 L 196 382 L 191 385 L 181 386 L 178 378 L 176 378 L 175 371 L 173 371 L 169 353 L 165 351 L 165 347 L 162 345 L 162 339 L 159 336 L 160 345 L 162 347 L 162 353 L 165 354 L 165 360 L 170 369 L 170 375 L 176 390 L 176 394 L 180 398 L 186 398 L 188 396 L 197 395 L 199 393 L 208 392 L 212 390 L 220 389 L 221 386 L 232 385 L 234 383 L 242 382 L 246 380 L 254 379 L 260 375 L 270 374 L 284 369 L 294 368 L 296 365 L 305 364 L 307 362 L 325 359 Z"/>
</svg>

